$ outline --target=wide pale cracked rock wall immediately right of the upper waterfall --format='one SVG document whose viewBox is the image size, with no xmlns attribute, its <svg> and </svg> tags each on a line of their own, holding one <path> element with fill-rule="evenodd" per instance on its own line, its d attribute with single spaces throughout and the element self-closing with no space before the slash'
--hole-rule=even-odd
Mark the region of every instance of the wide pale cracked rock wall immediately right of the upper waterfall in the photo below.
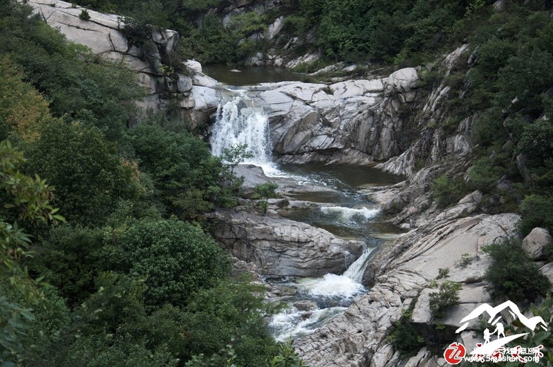
<svg viewBox="0 0 553 367">
<path fill-rule="evenodd" d="M 368 164 L 402 153 L 403 111 L 415 100 L 418 73 L 335 84 L 282 82 L 250 87 L 270 120 L 274 152 L 283 162 Z"/>
</svg>

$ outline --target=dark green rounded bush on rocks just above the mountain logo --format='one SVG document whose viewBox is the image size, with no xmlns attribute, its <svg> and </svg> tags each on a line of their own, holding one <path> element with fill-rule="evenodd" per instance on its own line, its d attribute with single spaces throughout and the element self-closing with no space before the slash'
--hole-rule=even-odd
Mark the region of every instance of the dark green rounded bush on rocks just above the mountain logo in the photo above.
<svg viewBox="0 0 553 367">
<path fill-rule="evenodd" d="M 550 288 L 550 281 L 527 257 L 520 241 L 494 243 L 485 247 L 485 252 L 493 260 L 485 278 L 494 297 L 507 297 L 513 302 L 534 301 Z"/>
</svg>

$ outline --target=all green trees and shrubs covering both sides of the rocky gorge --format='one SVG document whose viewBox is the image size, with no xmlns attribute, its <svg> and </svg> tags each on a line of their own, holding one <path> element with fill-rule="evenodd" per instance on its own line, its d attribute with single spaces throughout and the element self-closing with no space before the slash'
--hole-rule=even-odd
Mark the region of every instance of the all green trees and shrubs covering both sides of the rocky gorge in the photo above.
<svg viewBox="0 0 553 367">
<path fill-rule="evenodd" d="M 428 64 L 423 82 L 451 87 L 447 120 L 428 129 L 451 132 L 470 117 L 475 147 L 468 181 L 433 183 L 438 205 L 480 189 L 483 211 L 521 213 L 521 234 L 536 226 L 553 232 L 550 0 L 505 1 L 502 11 L 493 0 L 285 0 L 225 25 L 226 1 L 75 3 L 120 13 L 138 46 L 154 27 L 178 30 L 180 55 L 169 61 L 241 63 L 274 46 L 252 36 L 286 15 L 283 32 L 299 39 L 290 53 Z M 465 59 L 451 75 L 436 75 L 431 64 L 461 42 L 470 44 Z M 129 129 L 133 100 L 143 93 L 126 68 L 0 0 L 0 362 L 299 364 L 290 346 L 270 338 L 261 290 L 229 279 L 229 258 L 202 229 L 205 211 L 235 202 L 232 164 L 175 129 L 170 116 L 151 115 Z M 254 194 L 266 205 L 274 187 Z M 489 252 L 495 263 L 487 277 L 499 297 L 533 300 L 547 288 L 515 243 Z M 538 288 L 521 293 L 520 283 Z M 403 328 L 408 319 L 394 335 L 415 351 L 422 341 Z"/>
</svg>

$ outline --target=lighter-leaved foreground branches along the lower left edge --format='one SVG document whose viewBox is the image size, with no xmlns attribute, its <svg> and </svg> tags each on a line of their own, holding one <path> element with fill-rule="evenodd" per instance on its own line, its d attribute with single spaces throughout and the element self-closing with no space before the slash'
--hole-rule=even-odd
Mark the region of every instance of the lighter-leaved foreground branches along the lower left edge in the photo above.
<svg viewBox="0 0 553 367">
<path fill-rule="evenodd" d="M 0 189 L 6 191 L 10 202 L 8 207 L 17 209 L 19 219 L 25 223 L 47 223 L 51 220 L 64 220 L 55 214 L 57 209 L 50 205 L 52 187 L 46 185 L 39 176 L 31 178 L 18 170 L 23 160 L 22 154 L 15 150 L 10 142 L 0 142 Z M 10 224 L 0 219 L 0 279 L 9 279 L 12 292 L 28 303 L 37 304 L 42 298 L 37 288 L 39 280 L 34 281 L 21 263 L 31 253 L 28 251 L 30 238 L 19 228 L 17 223 Z M 6 282 L 7 283 L 7 282 Z M 4 358 L 13 355 L 21 348 L 21 336 L 28 322 L 35 317 L 28 308 L 21 308 L 17 303 L 6 298 L 5 292 L 0 297 L 0 362 L 8 363 Z"/>
</svg>

